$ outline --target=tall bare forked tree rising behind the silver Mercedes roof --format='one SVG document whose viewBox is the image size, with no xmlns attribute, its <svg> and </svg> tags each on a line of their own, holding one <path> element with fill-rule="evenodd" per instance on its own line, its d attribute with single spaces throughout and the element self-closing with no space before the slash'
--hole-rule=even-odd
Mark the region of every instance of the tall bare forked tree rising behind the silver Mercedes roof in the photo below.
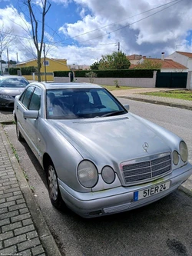
<svg viewBox="0 0 192 256">
<path fill-rule="evenodd" d="M 44 35 L 45 35 L 45 15 L 48 13 L 49 8 L 51 7 L 51 3 L 48 0 L 41 0 L 41 27 L 39 28 L 40 22 L 38 22 L 38 18 L 35 16 L 35 5 L 33 5 L 32 0 L 23 0 L 23 3 L 27 5 L 30 22 L 31 22 L 31 30 L 32 30 L 32 38 L 37 51 L 37 62 L 38 62 L 38 81 L 41 81 L 41 54 L 43 50 L 44 44 Z M 39 40 L 40 38 L 40 40 Z"/>
</svg>

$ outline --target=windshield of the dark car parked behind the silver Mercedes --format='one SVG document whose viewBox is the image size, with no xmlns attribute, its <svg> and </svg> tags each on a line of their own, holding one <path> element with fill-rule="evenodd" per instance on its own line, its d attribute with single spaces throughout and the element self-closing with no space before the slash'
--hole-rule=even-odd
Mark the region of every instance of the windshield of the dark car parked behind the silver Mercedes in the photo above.
<svg viewBox="0 0 192 256">
<path fill-rule="evenodd" d="M 28 85 L 25 78 L 1 78 L 1 88 L 25 88 Z"/>
</svg>

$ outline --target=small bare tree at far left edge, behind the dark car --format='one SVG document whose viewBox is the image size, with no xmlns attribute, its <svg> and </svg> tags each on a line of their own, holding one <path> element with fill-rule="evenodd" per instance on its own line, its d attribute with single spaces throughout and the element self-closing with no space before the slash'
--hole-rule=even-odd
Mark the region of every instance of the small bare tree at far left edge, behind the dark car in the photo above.
<svg viewBox="0 0 192 256">
<path fill-rule="evenodd" d="M 0 63 L 1 63 L 1 72 L 2 70 L 2 53 L 8 48 L 11 42 L 15 39 L 15 36 L 12 35 L 12 28 L 5 28 L 4 24 L 0 28 Z"/>
</svg>

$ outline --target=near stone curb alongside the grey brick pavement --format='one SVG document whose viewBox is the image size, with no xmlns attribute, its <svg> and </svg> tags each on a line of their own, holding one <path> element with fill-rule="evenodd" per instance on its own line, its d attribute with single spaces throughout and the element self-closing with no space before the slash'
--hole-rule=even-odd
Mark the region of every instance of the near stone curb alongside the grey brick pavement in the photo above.
<svg viewBox="0 0 192 256">
<path fill-rule="evenodd" d="M 1 125 L 0 132 L 2 135 L 2 142 L 5 145 L 5 149 L 8 153 L 8 158 L 11 162 L 13 170 L 15 171 L 18 185 L 22 191 L 22 194 L 24 195 L 28 210 L 31 214 L 31 218 L 35 224 L 36 231 L 38 232 L 38 238 L 40 239 L 47 256 L 61 256 L 61 253 L 58 250 L 58 245 L 56 244 L 48 228 L 48 225 L 45 222 L 45 218 L 41 214 L 41 209 L 39 208 L 38 203 L 35 201 L 34 195 L 32 194 L 28 182 L 25 180 L 25 177 L 23 175 L 22 168 L 20 167 L 17 159 L 15 158 L 15 155 L 12 152 L 12 148 L 10 146 L 8 138 L 6 137 L 5 131 L 3 131 Z"/>
</svg>

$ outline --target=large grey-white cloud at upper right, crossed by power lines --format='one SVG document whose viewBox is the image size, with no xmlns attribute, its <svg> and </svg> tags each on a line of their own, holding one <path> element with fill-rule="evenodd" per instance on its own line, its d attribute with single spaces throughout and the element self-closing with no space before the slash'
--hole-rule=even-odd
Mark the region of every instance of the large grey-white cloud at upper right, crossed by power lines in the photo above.
<svg viewBox="0 0 192 256">
<path fill-rule="evenodd" d="M 168 49 L 169 52 L 166 52 L 168 55 L 174 52 L 176 45 L 180 44 L 186 51 L 190 48 L 191 42 L 184 41 L 192 23 L 190 0 L 173 2 L 169 5 L 167 0 L 155 2 L 154 0 L 129 2 L 127 0 L 74 0 L 74 2 L 83 13 L 88 9 L 91 14 L 83 16 L 81 21 L 63 25 L 60 32 L 64 32 L 71 38 L 84 34 L 74 38 L 78 42 L 86 41 L 84 43 L 91 44 L 108 43 L 114 40 L 121 43 L 122 50 L 126 49 L 127 54 L 143 55 L 157 55 L 158 52 L 161 55 L 165 49 Z M 157 8 L 160 5 L 164 6 Z M 151 10 L 152 8 L 154 10 Z M 146 12 L 148 10 L 151 12 Z M 141 14 L 142 12 L 145 13 Z M 101 28 L 104 25 L 110 26 Z M 101 29 L 88 33 L 96 28 Z M 100 35 L 104 36 L 99 37 Z M 91 40 L 88 41 L 88 39 Z"/>
</svg>

